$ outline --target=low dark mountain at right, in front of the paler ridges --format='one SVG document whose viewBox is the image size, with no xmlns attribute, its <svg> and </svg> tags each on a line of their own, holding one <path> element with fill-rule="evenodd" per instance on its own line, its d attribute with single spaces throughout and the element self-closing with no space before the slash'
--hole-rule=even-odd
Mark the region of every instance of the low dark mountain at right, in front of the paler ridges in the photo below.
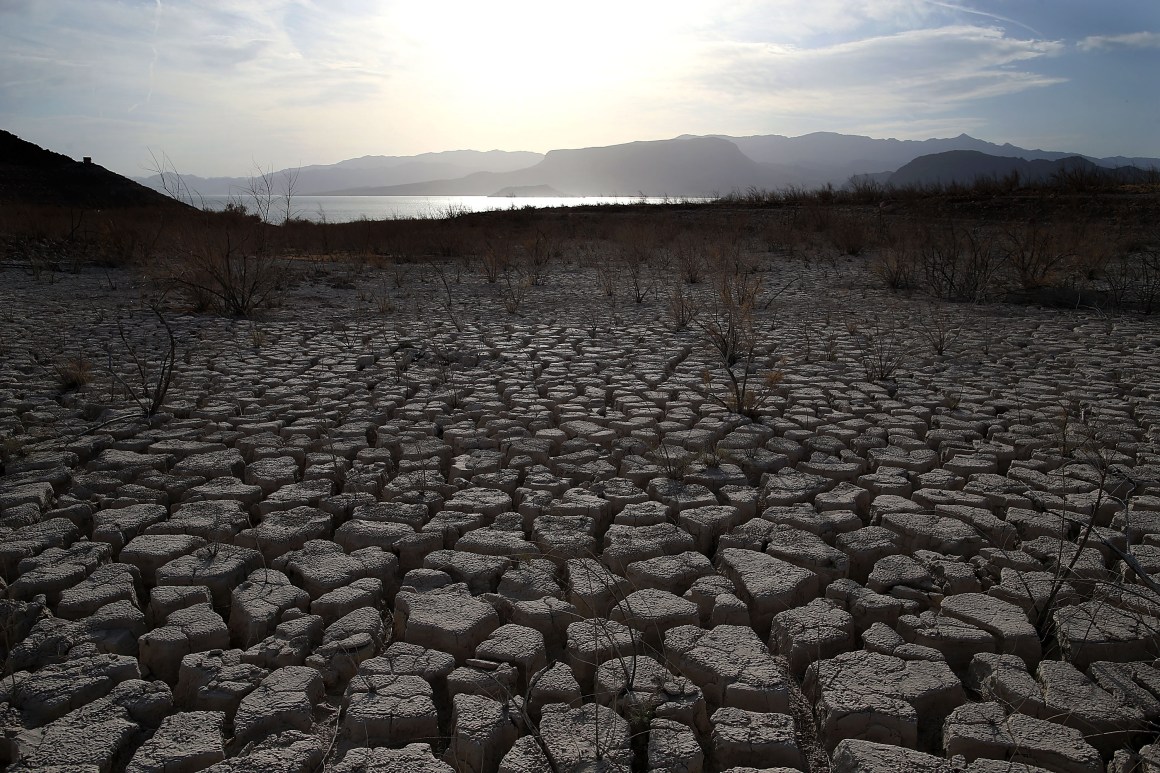
<svg viewBox="0 0 1160 773">
<path fill-rule="evenodd" d="M 991 156 L 979 151 L 947 151 L 920 156 L 890 175 L 887 183 L 899 187 L 971 185 L 979 179 L 1002 179 L 1016 173 L 1024 182 L 1045 182 L 1064 174 L 1105 175 L 1123 182 L 1136 182 L 1146 174 L 1134 166 L 1100 166 L 1081 156 L 1047 160 Z"/>
</svg>

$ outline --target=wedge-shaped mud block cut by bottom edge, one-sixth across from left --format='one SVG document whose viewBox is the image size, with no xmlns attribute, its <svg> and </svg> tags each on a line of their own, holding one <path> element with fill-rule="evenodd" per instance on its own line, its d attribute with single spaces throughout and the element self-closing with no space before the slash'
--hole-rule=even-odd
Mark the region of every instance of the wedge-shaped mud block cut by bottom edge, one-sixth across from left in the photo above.
<svg viewBox="0 0 1160 773">
<path fill-rule="evenodd" d="M 222 711 L 182 711 L 161 721 L 125 773 L 195 773 L 225 759 Z"/>
</svg>

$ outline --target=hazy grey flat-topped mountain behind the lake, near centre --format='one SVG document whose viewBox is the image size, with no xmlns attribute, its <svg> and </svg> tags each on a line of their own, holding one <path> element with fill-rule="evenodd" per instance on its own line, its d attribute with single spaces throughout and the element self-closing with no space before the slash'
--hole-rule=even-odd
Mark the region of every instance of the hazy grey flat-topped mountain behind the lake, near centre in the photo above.
<svg viewBox="0 0 1160 773">
<path fill-rule="evenodd" d="M 488 196 L 503 188 L 549 186 L 575 196 L 711 196 L 780 183 L 778 171 L 757 164 L 715 137 L 637 142 L 550 151 L 527 169 L 481 172 L 459 179 L 334 193 L 368 196 Z"/>
</svg>

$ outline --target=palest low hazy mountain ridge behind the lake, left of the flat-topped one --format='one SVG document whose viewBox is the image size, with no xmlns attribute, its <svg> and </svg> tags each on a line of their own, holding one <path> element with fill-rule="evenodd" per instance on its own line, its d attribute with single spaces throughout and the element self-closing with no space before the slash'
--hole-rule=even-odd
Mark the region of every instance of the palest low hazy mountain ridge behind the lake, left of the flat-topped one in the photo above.
<svg viewBox="0 0 1160 773">
<path fill-rule="evenodd" d="M 363 156 L 338 164 L 318 164 L 297 169 L 295 193 L 326 195 L 327 192 L 346 188 L 376 186 L 399 186 L 425 180 L 462 178 L 476 172 L 510 172 L 522 169 L 539 161 L 542 153 L 527 151 L 444 151 L 419 156 Z M 274 172 L 276 189 L 285 185 L 284 175 L 293 169 Z M 182 175 L 183 182 L 195 194 L 203 196 L 226 196 L 244 194 L 249 187 L 249 175 L 239 178 L 200 178 Z M 138 182 L 155 190 L 161 189 L 158 175 L 138 178 Z"/>
</svg>

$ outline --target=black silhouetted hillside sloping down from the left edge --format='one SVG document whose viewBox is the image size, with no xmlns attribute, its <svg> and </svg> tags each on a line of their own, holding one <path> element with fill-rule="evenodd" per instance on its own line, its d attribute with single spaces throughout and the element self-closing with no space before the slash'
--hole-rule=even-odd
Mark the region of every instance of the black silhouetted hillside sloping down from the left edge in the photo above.
<svg viewBox="0 0 1160 773">
<path fill-rule="evenodd" d="M 0 201 L 82 209 L 183 207 L 103 166 L 77 161 L 2 130 Z"/>
</svg>

